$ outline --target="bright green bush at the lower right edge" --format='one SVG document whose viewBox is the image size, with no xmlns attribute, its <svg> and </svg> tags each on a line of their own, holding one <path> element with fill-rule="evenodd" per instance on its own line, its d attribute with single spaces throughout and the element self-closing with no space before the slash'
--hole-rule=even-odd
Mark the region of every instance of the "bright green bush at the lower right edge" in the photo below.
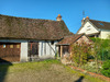
<svg viewBox="0 0 110 82">
<path fill-rule="evenodd" d="M 103 62 L 101 73 L 110 78 L 110 60 Z"/>
</svg>

